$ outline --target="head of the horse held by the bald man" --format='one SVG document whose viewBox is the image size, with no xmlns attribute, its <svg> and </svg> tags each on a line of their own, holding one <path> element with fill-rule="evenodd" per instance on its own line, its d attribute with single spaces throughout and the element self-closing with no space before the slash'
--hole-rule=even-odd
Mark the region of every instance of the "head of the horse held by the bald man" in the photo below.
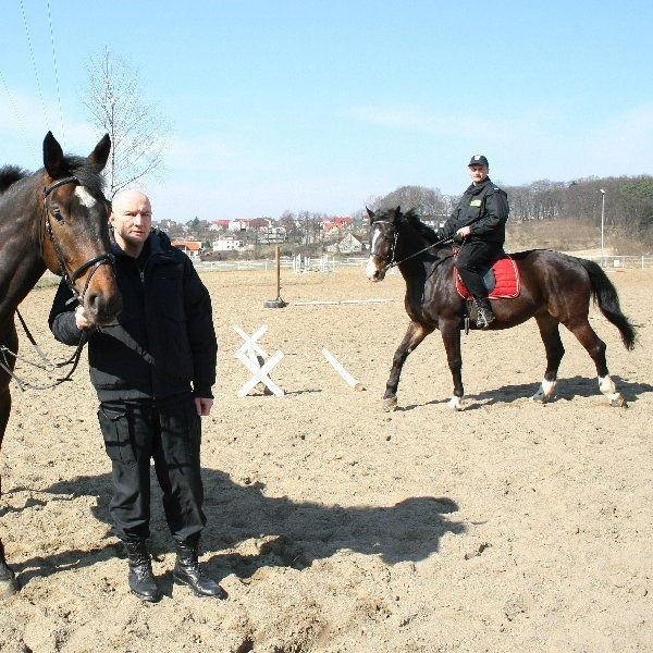
<svg viewBox="0 0 653 653">
<path fill-rule="evenodd" d="M 88 157 L 64 156 L 51 132 L 44 140 L 44 262 L 66 280 L 95 324 L 108 324 L 122 309 L 100 174 L 110 149 L 108 134 Z"/>
</svg>

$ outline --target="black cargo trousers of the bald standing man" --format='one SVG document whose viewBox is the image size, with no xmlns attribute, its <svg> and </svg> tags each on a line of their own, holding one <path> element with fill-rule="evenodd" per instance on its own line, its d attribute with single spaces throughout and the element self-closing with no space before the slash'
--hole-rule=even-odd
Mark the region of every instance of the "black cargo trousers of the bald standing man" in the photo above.
<svg viewBox="0 0 653 653">
<path fill-rule="evenodd" d="M 201 422 L 190 394 L 167 402 L 102 402 L 100 430 L 112 464 L 109 509 L 118 537 L 140 542 L 149 534 L 150 459 L 163 492 L 173 538 L 199 538 L 206 517 L 199 464 Z"/>
</svg>

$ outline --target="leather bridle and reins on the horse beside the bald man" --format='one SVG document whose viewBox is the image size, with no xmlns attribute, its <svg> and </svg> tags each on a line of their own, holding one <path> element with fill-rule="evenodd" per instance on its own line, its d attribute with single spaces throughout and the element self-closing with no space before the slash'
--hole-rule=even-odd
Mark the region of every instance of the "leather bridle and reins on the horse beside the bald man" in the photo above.
<svg viewBox="0 0 653 653">
<path fill-rule="evenodd" d="M 44 188 L 42 221 L 41 221 L 41 227 L 39 229 L 39 249 L 41 250 L 41 256 L 42 256 L 44 233 L 47 233 L 48 237 L 50 238 L 52 249 L 54 250 L 54 255 L 57 256 L 57 261 L 59 262 L 59 267 L 61 270 L 61 276 L 65 281 L 69 288 L 71 289 L 71 293 L 73 294 L 73 296 L 69 299 L 69 304 L 76 300 L 79 303 L 81 306 L 83 306 L 84 305 L 84 296 L 86 295 L 86 291 L 88 289 L 88 285 L 90 283 L 93 275 L 96 273 L 96 271 L 98 270 L 98 268 L 100 266 L 103 266 L 107 263 L 110 266 L 113 266 L 114 261 L 115 261 L 115 257 L 112 254 L 101 254 L 101 255 L 96 256 L 96 257 L 87 260 L 86 262 L 82 263 L 77 269 L 73 270 L 72 272 L 70 271 L 70 269 L 65 262 L 63 252 L 61 251 L 61 247 L 59 246 L 57 238 L 54 238 L 54 234 L 52 232 L 52 224 L 50 223 L 50 211 L 48 210 L 46 200 L 48 198 L 48 195 L 50 195 L 50 193 L 52 193 L 52 190 L 54 190 L 54 188 L 59 188 L 60 186 L 63 186 L 65 184 L 78 184 L 78 183 L 79 183 L 79 180 L 76 176 L 67 176 L 67 177 L 64 177 L 63 180 L 59 180 L 59 181 L 54 182 L 50 186 L 46 186 Z M 56 217 L 56 220 L 61 221 L 57 217 Z M 75 287 L 75 281 L 77 281 L 77 279 L 82 274 L 84 274 L 84 272 L 86 272 L 86 270 L 88 270 L 89 268 L 91 270 L 90 270 L 88 276 L 86 278 L 86 282 L 84 284 L 84 288 L 82 289 L 82 293 L 79 293 L 77 291 L 77 288 Z M 40 370 L 46 370 L 46 371 L 52 371 L 52 370 L 56 370 L 59 368 L 67 367 L 69 365 L 71 365 L 72 367 L 65 377 L 63 377 L 61 379 L 57 379 L 48 385 L 35 385 L 35 384 L 29 383 L 28 381 L 25 381 L 24 379 L 21 379 L 20 377 L 16 375 L 16 373 L 13 370 L 13 365 L 10 365 L 8 356 L 12 357 L 15 361 L 15 360 L 19 360 L 17 353 L 12 352 L 5 344 L 0 344 L 0 369 L 4 370 L 16 382 L 17 386 L 21 390 L 26 390 L 26 389 L 50 390 L 52 387 L 56 387 L 60 383 L 67 381 L 73 375 L 75 370 L 77 369 L 77 365 L 78 365 L 79 358 L 82 356 L 82 349 L 84 348 L 84 345 L 86 344 L 86 342 L 88 340 L 87 330 L 83 330 L 82 340 L 79 341 L 79 344 L 76 346 L 74 354 L 67 360 L 64 360 L 61 362 L 51 362 L 50 360 L 48 360 L 46 355 L 39 348 L 34 336 L 29 332 L 29 329 L 27 328 L 27 324 L 26 324 L 25 320 L 23 319 L 21 311 L 17 308 L 16 308 L 16 315 L 19 316 L 21 325 L 23 326 L 23 330 L 25 331 L 25 335 L 27 336 L 27 338 L 32 343 L 32 346 L 34 347 L 34 349 L 38 354 L 39 358 L 41 359 L 41 364 L 32 362 L 26 359 L 22 359 L 23 361 L 27 362 L 28 365 L 32 365 L 33 367 L 36 367 Z"/>
</svg>

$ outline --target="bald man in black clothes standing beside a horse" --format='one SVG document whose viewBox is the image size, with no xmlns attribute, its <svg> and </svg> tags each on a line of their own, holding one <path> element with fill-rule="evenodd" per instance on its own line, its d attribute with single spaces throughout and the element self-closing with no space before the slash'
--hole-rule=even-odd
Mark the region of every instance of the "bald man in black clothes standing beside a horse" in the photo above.
<svg viewBox="0 0 653 653">
<path fill-rule="evenodd" d="M 88 336 L 90 380 L 112 464 L 110 512 L 130 564 L 128 584 L 144 601 L 161 593 L 146 546 L 150 535 L 150 458 L 163 492 L 165 519 L 176 545 L 175 582 L 199 596 L 226 592 L 198 563 L 206 523 L 200 476 L 200 417 L 213 404 L 218 344 L 211 299 L 190 259 L 151 229 L 146 195 L 123 190 L 109 218 L 123 310 L 91 329 L 84 307 L 61 283 L 50 311 L 54 337 L 76 345 Z"/>
</svg>

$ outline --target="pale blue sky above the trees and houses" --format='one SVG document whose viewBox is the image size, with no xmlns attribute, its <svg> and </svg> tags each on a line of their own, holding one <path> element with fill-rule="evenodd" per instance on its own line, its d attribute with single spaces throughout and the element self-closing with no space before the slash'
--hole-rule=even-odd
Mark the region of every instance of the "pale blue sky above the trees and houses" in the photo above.
<svg viewBox="0 0 653 653">
<path fill-rule="evenodd" d="M 156 219 L 459 194 L 478 152 L 506 185 L 650 174 L 652 5 L 4 0 L 0 163 L 39 168 L 48 130 L 90 151 L 85 64 L 108 46 L 172 125 Z"/>
</svg>

